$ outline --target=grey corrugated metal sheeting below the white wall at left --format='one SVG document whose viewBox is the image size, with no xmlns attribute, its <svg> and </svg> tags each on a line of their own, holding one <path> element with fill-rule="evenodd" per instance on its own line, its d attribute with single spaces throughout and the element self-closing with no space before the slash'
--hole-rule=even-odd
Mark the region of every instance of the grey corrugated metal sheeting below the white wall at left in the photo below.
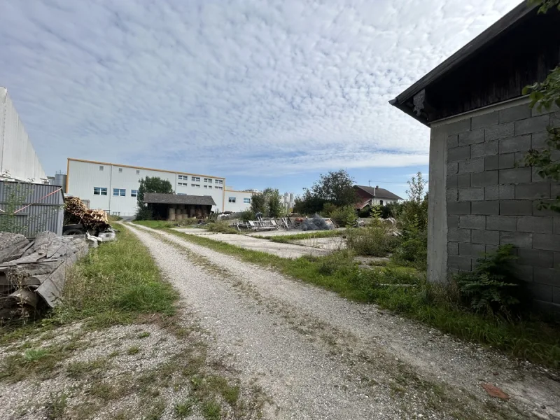
<svg viewBox="0 0 560 420">
<path fill-rule="evenodd" d="M 62 235 L 64 196 L 59 188 L 48 184 L 0 181 L 1 210 L 12 213 L 31 204 L 18 211 L 15 216 L 7 216 L 0 212 L 0 226 L 6 229 L 9 225 L 10 230 L 20 232 L 27 237 L 34 237 L 43 230 Z"/>
</svg>

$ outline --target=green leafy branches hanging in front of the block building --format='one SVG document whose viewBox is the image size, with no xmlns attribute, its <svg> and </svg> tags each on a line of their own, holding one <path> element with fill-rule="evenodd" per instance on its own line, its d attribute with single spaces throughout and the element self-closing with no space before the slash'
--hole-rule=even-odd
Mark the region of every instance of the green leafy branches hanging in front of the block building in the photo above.
<svg viewBox="0 0 560 420">
<path fill-rule="evenodd" d="M 551 8 L 560 10 L 560 0 L 529 0 L 529 4 L 540 4 L 538 13 L 547 13 Z M 560 107 L 560 66 L 556 66 L 543 82 L 524 87 L 523 94 L 529 94 L 529 106 L 536 106 L 538 111 L 542 108 L 549 111 L 554 105 Z M 554 156 L 554 152 L 560 153 L 560 127 L 548 127 L 548 134 L 548 148 L 528 151 L 525 163 L 536 167 L 542 178 L 560 182 L 560 160 Z M 555 198 L 552 202 L 541 202 L 540 207 L 560 211 L 560 196 Z"/>
</svg>

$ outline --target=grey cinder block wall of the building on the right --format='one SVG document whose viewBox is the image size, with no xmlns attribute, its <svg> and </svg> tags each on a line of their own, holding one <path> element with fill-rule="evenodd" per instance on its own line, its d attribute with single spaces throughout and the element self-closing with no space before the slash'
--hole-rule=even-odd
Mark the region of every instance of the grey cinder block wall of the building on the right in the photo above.
<svg viewBox="0 0 560 420">
<path fill-rule="evenodd" d="M 560 214 L 538 209 L 560 184 L 523 164 L 526 151 L 546 146 L 551 124 L 560 126 L 560 111 L 518 103 L 446 126 L 447 269 L 470 271 L 484 252 L 514 244 L 535 307 L 560 311 Z"/>
</svg>

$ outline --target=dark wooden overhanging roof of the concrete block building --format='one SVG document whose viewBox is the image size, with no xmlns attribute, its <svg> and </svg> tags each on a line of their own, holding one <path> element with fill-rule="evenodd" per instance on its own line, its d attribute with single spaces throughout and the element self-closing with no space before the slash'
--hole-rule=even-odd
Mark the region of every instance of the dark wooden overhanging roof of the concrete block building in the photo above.
<svg viewBox="0 0 560 420">
<path fill-rule="evenodd" d="M 559 61 L 560 13 L 524 0 L 390 103 L 429 123 L 521 97 Z"/>
</svg>

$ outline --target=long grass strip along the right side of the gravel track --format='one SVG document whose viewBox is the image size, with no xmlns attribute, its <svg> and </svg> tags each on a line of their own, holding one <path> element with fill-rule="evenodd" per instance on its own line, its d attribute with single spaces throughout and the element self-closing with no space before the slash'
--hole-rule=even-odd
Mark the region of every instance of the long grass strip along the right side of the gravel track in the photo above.
<svg viewBox="0 0 560 420">
<path fill-rule="evenodd" d="M 167 230 L 195 244 L 233 255 L 246 262 L 277 271 L 335 291 L 358 302 L 374 302 L 380 307 L 413 318 L 461 339 L 491 345 L 510 356 L 549 367 L 560 367 L 560 325 L 538 317 L 510 322 L 465 311 L 450 298 L 453 290 L 426 281 L 413 267 L 376 267 L 360 270 L 346 251 L 326 257 L 280 258 L 212 239 Z M 392 283 L 413 286 L 393 286 Z"/>
</svg>

